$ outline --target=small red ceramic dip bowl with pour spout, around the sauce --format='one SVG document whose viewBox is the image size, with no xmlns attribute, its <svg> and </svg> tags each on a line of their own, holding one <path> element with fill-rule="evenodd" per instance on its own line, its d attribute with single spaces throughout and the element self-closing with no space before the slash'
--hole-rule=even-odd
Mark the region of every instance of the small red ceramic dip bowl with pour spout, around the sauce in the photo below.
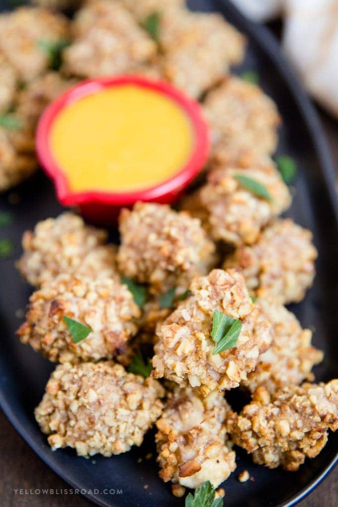
<svg viewBox="0 0 338 507">
<path fill-rule="evenodd" d="M 118 192 L 93 190 L 74 192 L 69 188 L 66 172 L 56 162 L 50 143 L 50 132 L 54 120 L 63 108 L 87 95 L 102 91 L 104 88 L 134 85 L 155 90 L 173 100 L 191 122 L 193 132 L 192 150 L 185 165 L 177 169 L 171 177 L 151 188 L 135 192 Z M 48 176 L 53 180 L 56 195 L 64 206 L 77 206 L 89 220 L 109 224 L 114 221 L 124 206 L 131 206 L 136 201 L 156 201 L 171 203 L 176 200 L 184 188 L 203 168 L 210 142 L 208 125 L 203 118 L 200 105 L 185 96 L 169 83 L 155 81 L 141 76 L 119 76 L 85 81 L 66 91 L 54 100 L 42 115 L 36 131 L 36 152 Z"/>
</svg>

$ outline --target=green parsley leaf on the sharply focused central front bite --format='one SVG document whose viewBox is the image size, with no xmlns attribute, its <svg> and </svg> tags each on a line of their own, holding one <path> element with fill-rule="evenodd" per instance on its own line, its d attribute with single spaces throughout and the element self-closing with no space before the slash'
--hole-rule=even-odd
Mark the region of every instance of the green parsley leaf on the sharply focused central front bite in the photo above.
<svg viewBox="0 0 338 507">
<path fill-rule="evenodd" d="M 242 322 L 240 320 L 215 310 L 212 316 L 211 338 L 216 345 L 212 353 L 219 354 L 219 352 L 235 347 L 241 329 Z"/>
</svg>

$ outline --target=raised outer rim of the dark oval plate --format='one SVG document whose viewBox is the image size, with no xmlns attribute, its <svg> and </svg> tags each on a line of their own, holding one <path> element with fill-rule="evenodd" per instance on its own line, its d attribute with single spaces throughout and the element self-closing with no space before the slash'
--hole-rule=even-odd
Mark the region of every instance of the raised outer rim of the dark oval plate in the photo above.
<svg viewBox="0 0 338 507">
<path fill-rule="evenodd" d="M 272 32 L 264 25 L 254 23 L 246 18 L 240 11 L 232 4 L 230 0 L 212 0 L 213 6 L 217 9 L 219 7 L 227 10 L 231 16 L 238 20 L 239 23 L 245 27 L 245 31 L 255 40 L 260 48 L 269 56 L 274 66 L 278 69 L 279 74 L 282 76 L 289 92 L 301 111 L 302 117 L 308 126 L 308 133 L 313 142 L 314 149 L 316 150 L 318 160 L 320 162 L 321 171 L 323 173 L 324 185 L 326 187 L 327 195 L 333 212 L 333 219 L 336 229 L 338 230 L 338 198 L 335 194 L 335 179 L 334 179 L 334 164 L 331 158 L 328 141 L 323 131 L 322 124 L 319 120 L 315 106 L 312 104 L 310 98 L 306 94 L 305 89 L 301 85 L 295 70 L 292 65 L 287 61 L 282 53 L 280 45 Z M 19 433 L 20 437 L 32 449 L 32 451 L 47 465 L 51 470 L 57 474 L 63 481 L 69 484 L 74 489 L 78 489 L 76 483 L 66 477 L 62 467 L 55 463 L 52 456 L 53 453 L 46 453 L 34 441 L 30 433 L 27 432 L 23 422 L 13 412 L 9 401 L 6 399 L 3 390 L 0 390 L 0 408 L 3 410 L 5 416 L 10 424 Z M 290 500 L 280 503 L 279 507 L 292 507 L 296 503 L 306 498 L 317 486 L 328 476 L 330 472 L 338 463 L 338 452 L 336 456 L 329 462 L 329 464 L 322 470 L 320 475 L 313 480 L 308 486 L 299 491 Z M 81 493 L 82 494 L 82 493 Z M 111 502 L 106 503 L 101 498 L 96 497 L 92 493 L 82 494 L 85 498 L 101 505 L 102 507 L 111 507 Z"/>
</svg>

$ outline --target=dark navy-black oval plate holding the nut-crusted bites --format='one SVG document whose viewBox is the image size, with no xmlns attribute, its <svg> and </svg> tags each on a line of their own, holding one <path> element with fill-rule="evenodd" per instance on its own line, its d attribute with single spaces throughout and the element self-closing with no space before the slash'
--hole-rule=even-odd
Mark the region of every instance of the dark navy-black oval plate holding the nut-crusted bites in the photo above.
<svg viewBox="0 0 338 507">
<path fill-rule="evenodd" d="M 1 5 L 4 7 L 5 3 Z M 261 85 L 276 100 L 283 116 L 279 153 L 295 157 L 300 169 L 295 183 L 296 196 L 288 214 L 313 231 L 320 252 L 315 285 L 305 301 L 292 307 L 292 311 L 305 327 L 315 328 L 314 344 L 325 351 L 325 359 L 316 369 L 316 377 L 329 380 L 338 371 L 338 205 L 323 132 L 313 107 L 266 29 L 245 20 L 227 2 L 196 0 L 191 2 L 191 7 L 218 10 L 247 35 L 250 45 L 240 70 L 258 71 Z M 138 463 L 138 458 L 148 452 L 155 454 L 153 433 L 148 434 L 141 448 L 127 454 L 112 458 L 95 456 L 95 459 L 86 460 L 77 457 L 70 449 L 53 453 L 35 423 L 33 409 L 41 400 L 53 365 L 21 345 L 15 337 L 20 324 L 16 310 L 25 307 L 31 289 L 20 280 L 13 260 L 20 256 L 23 231 L 32 228 L 39 220 L 57 215 L 61 207 L 55 201 L 51 183 L 42 173 L 16 189 L 15 193 L 20 196 L 16 205 L 9 203 L 9 195 L 0 198 L 0 208 L 14 213 L 14 224 L 2 229 L 0 234 L 10 237 L 15 244 L 13 259 L 0 261 L 0 402 L 3 410 L 36 454 L 94 502 L 109 506 L 183 505 L 184 500 L 175 499 L 170 486 L 159 479 L 154 458 Z M 10 201 L 15 197 L 11 195 Z M 226 483 L 228 507 L 296 503 L 333 468 L 337 461 L 337 443 L 338 432 L 330 434 L 321 454 L 313 460 L 306 460 L 296 473 L 253 465 L 251 458 L 237 449 L 237 472 Z M 240 484 L 236 480 L 244 469 L 249 470 L 254 482 Z M 148 485 L 147 489 L 144 485 Z M 115 494 L 109 490 L 115 490 Z M 118 494 L 118 490 L 123 494 Z"/>
</svg>

